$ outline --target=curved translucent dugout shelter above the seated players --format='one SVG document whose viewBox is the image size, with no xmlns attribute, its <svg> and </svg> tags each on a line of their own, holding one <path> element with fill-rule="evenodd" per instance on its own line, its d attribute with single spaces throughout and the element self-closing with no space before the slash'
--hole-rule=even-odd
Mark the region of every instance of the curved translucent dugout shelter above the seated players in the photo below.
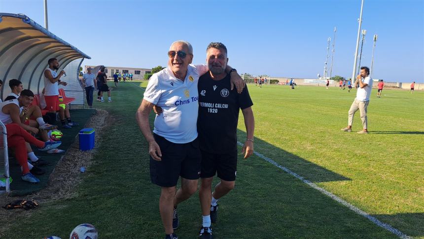
<svg viewBox="0 0 424 239">
<path fill-rule="evenodd" d="M 9 93 L 8 81 L 20 80 L 25 89 L 39 94 L 44 88 L 43 72 L 48 67 L 48 59 L 57 58 L 58 72 L 64 69 L 67 76 L 61 80 L 68 83 L 60 86 L 67 97 L 75 98 L 73 104 L 84 104 L 84 88 L 78 78 L 82 61 L 89 56 L 47 31 L 24 14 L 0 13 L 0 79 L 3 87 L 0 97 L 3 100 Z M 5 128 L 3 127 L 3 133 Z M 3 134 L 4 136 L 4 134 Z M 7 145 L 1 137 L 0 178 L 8 178 Z M 4 171 L 3 171 L 4 170 Z M 7 180 L 6 180 L 7 181 Z M 8 186 L 5 187 L 7 191 Z M 0 188 L 1 192 L 1 188 Z"/>
</svg>

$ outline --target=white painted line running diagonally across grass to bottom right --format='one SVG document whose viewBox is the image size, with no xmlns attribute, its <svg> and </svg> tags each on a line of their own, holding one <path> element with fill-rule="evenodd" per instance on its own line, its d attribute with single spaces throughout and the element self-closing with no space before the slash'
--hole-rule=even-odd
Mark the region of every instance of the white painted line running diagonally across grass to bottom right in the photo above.
<svg viewBox="0 0 424 239">
<path fill-rule="evenodd" d="M 237 141 L 237 144 L 239 144 L 240 146 L 243 146 L 243 143 Z M 371 222 L 373 222 L 374 224 L 376 224 L 379 227 L 382 227 L 386 230 L 388 230 L 389 232 L 393 233 L 394 235 L 398 236 L 399 238 L 402 239 L 411 239 L 411 237 L 407 236 L 406 234 L 402 233 L 401 231 L 397 230 L 396 228 L 393 228 L 392 226 L 390 226 L 387 223 L 381 222 L 380 220 L 378 220 L 377 218 L 371 216 L 370 214 L 362 211 L 361 209 L 357 208 L 356 206 L 344 201 L 343 199 L 337 197 L 336 195 L 328 192 L 327 190 L 319 187 L 317 184 L 310 182 L 308 180 L 306 180 L 304 177 L 300 176 L 299 174 L 279 165 L 277 162 L 275 162 L 274 160 L 264 156 L 263 154 L 260 154 L 256 151 L 253 151 L 254 154 L 256 154 L 258 157 L 264 159 L 265 161 L 268 161 L 269 163 L 271 163 L 272 165 L 276 166 L 277 168 L 287 172 L 288 174 L 294 176 L 295 178 L 301 180 L 302 182 L 308 184 L 310 187 L 317 189 L 319 192 L 321 192 L 322 194 L 330 197 L 331 199 L 341 203 L 342 205 L 347 206 L 349 209 L 353 210 L 354 212 L 356 212 L 357 214 L 367 218 L 368 220 L 370 220 Z"/>
</svg>

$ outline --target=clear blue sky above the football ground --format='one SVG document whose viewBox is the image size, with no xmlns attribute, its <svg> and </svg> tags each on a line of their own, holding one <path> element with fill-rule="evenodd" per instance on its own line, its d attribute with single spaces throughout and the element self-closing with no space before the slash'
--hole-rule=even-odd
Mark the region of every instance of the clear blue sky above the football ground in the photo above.
<svg viewBox="0 0 424 239">
<path fill-rule="evenodd" d="M 323 74 L 334 27 L 333 75 L 351 77 L 359 11 L 360 0 L 48 0 L 49 31 L 92 57 L 83 65 L 166 66 L 179 39 L 204 63 L 206 46 L 220 41 L 239 73 L 299 78 Z M 0 0 L 0 12 L 44 26 L 43 0 Z M 362 29 L 361 65 L 371 65 L 379 36 L 374 78 L 424 82 L 423 0 L 365 0 Z"/>
</svg>

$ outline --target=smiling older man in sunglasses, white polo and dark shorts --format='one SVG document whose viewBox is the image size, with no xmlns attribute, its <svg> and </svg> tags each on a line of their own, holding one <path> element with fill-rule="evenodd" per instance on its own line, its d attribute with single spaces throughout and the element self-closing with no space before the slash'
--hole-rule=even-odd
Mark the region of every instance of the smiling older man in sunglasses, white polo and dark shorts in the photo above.
<svg viewBox="0 0 424 239">
<path fill-rule="evenodd" d="M 200 177 L 201 153 L 196 127 L 199 109 L 197 83 L 199 76 L 208 68 L 190 65 L 193 48 L 186 41 L 174 42 L 168 56 L 168 68 L 150 77 L 136 117 L 149 143 L 151 181 L 161 187 L 159 209 L 165 238 L 175 239 L 177 205 L 197 191 Z M 232 72 L 232 68 L 227 67 L 226 71 Z M 241 92 L 244 84 L 240 76 L 238 79 L 236 86 Z M 148 117 L 155 104 L 162 107 L 163 113 L 156 116 L 152 134 Z M 179 176 L 181 188 L 177 191 Z"/>
</svg>

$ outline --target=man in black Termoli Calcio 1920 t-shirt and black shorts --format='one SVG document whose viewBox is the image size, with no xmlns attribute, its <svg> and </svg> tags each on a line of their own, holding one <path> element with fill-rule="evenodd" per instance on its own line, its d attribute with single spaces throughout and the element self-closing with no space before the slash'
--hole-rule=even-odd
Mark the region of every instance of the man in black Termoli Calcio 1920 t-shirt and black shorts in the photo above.
<svg viewBox="0 0 424 239">
<path fill-rule="evenodd" d="M 241 94 L 230 88 L 230 76 L 225 73 L 227 48 L 212 42 L 207 48 L 209 72 L 199 78 L 199 116 L 197 129 L 202 151 L 202 183 L 199 191 L 203 225 L 201 238 L 212 238 L 211 221 L 216 221 L 217 201 L 235 185 L 237 172 L 237 123 L 242 109 L 247 139 L 243 153 L 247 159 L 253 153 L 253 105 L 247 86 Z M 213 176 L 221 181 L 212 191 Z M 202 237 L 204 236 L 204 237 Z"/>
</svg>

